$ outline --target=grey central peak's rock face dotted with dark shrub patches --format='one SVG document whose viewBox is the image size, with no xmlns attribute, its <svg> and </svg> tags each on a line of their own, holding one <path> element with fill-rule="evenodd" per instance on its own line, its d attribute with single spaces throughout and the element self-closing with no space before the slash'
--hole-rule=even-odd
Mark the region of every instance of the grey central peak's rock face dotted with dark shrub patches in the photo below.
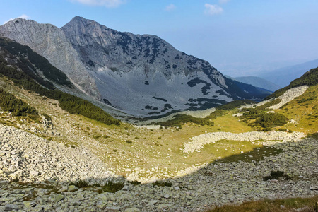
<svg viewBox="0 0 318 212">
<path fill-rule="evenodd" d="M 232 100 L 220 72 L 160 37 L 121 33 L 81 17 L 61 29 L 81 52 L 102 99 L 125 112 L 162 114 Z"/>
</svg>

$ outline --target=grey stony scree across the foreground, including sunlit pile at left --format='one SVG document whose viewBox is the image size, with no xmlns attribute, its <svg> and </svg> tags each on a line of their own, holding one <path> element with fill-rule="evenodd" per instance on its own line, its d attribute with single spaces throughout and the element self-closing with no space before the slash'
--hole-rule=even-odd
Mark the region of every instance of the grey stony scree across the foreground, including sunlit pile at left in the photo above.
<svg viewBox="0 0 318 212">
<path fill-rule="evenodd" d="M 318 194 L 318 142 L 293 139 L 276 142 L 283 153 L 259 162 L 213 163 L 171 187 L 134 185 L 116 177 L 85 148 L 67 147 L 11 126 L 0 125 L 0 211 L 203 211 L 222 204 Z M 268 180 L 281 170 L 290 180 Z M 9 182 L 18 177 L 20 182 Z M 115 193 L 98 186 L 70 186 L 74 179 L 100 187 L 122 182 Z"/>
</svg>

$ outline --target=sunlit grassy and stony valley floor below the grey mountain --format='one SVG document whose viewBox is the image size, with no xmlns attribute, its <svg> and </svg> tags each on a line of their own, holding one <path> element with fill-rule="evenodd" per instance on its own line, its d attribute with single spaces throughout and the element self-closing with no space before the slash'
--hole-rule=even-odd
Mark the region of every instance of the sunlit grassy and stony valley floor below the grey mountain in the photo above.
<svg viewBox="0 0 318 212">
<path fill-rule="evenodd" d="M 240 111 L 237 108 L 213 119 L 213 126 L 109 126 L 69 114 L 61 110 L 57 100 L 29 93 L 5 77 L 1 78 L 0 88 L 51 120 L 34 122 L 1 112 L 4 125 L 0 176 L 4 190 L 0 195 L 6 197 L 0 201 L 12 202 L 18 208 L 204 211 L 228 203 L 312 196 L 318 192 L 317 140 L 304 138 L 317 132 L 317 86 L 290 91 L 282 98 L 283 108 L 271 106 L 295 120 L 284 126 L 292 132 L 278 131 L 282 129 L 279 126 L 276 132 L 254 131 L 236 117 Z M 305 107 L 295 107 L 295 102 Z M 193 142 L 205 145 L 186 151 Z M 16 170 L 8 161 L 17 161 Z M 59 172 L 54 171 L 56 167 Z M 276 170 L 291 179 L 263 181 Z M 69 185 L 78 179 L 91 186 Z M 153 184 L 156 181 L 167 186 Z M 115 193 L 105 192 L 108 182 L 122 186 Z"/>
</svg>

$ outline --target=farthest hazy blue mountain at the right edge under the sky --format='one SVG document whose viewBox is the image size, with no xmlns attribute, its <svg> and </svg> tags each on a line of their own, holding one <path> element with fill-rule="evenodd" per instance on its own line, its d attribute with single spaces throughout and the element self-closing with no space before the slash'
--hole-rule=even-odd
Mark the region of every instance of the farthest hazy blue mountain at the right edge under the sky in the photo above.
<svg viewBox="0 0 318 212">
<path fill-rule="evenodd" d="M 280 88 L 283 88 L 285 86 L 288 86 L 291 81 L 302 76 L 302 74 L 304 74 L 306 71 L 317 67 L 318 59 L 315 59 L 303 64 L 288 66 L 285 68 L 276 69 L 275 71 L 261 73 L 259 74 L 259 77 L 265 78 L 266 80 L 277 84 L 278 86 L 280 86 Z"/>
</svg>

